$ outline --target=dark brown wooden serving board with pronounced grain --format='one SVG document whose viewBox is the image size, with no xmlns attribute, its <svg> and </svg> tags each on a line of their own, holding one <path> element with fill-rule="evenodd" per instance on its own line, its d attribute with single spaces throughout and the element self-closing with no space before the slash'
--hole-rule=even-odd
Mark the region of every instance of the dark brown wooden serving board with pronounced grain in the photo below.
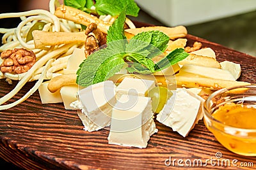
<svg viewBox="0 0 256 170">
<path fill-rule="evenodd" d="M 239 80 L 256 83 L 256 58 L 231 50 L 205 39 L 188 35 L 188 45 L 194 41 L 212 48 L 219 61 L 241 64 Z M 9 102 L 19 99 L 34 83 L 27 85 Z M 0 80 L 0 96 L 15 87 Z M 200 121 L 188 137 L 183 138 L 170 127 L 156 121 L 159 132 L 147 148 L 129 148 L 108 144 L 109 129 L 86 132 L 77 111 L 67 111 L 63 104 L 41 104 L 38 92 L 24 103 L 0 111 L 0 157 L 24 169 L 256 169 L 256 157 L 244 157 L 228 151 Z M 217 159 L 230 160 L 230 166 L 166 166 L 166 159 L 184 161 Z M 220 159 L 220 160 L 221 160 Z M 237 159 L 237 166 L 232 160 Z M 218 159 L 217 159 L 218 160 Z M 240 162 L 253 162 L 253 167 L 239 167 Z M 168 163 L 168 162 L 167 162 Z M 184 164 L 184 163 L 183 163 Z"/>
</svg>

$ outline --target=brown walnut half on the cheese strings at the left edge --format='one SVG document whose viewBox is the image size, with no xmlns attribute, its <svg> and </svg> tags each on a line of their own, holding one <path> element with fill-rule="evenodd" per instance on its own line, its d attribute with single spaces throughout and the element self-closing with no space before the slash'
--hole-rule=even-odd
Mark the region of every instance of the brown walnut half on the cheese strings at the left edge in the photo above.
<svg viewBox="0 0 256 170">
<path fill-rule="evenodd" d="M 33 51 L 24 48 L 15 48 L 1 53 L 3 62 L 0 69 L 3 73 L 21 74 L 27 72 L 36 62 Z"/>
</svg>

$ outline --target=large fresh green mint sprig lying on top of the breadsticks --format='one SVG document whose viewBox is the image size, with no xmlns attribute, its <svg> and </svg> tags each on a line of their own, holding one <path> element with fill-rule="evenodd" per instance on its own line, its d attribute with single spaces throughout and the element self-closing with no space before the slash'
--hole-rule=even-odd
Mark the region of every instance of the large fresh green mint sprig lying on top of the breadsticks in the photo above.
<svg viewBox="0 0 256 170">
<path fill-rule="evenodd" d="M 125 11 L 122 11 L 109 28 L 107 47 L 93 52 L 77 70 L 77 84 L 88 87 L 108 80 L 120 71 L 125 62 L 129 73 L 151 74 L 188 57 L 184 49 L 177 48 L 156 64 L 152 58 L 167 47 L 169 37 L 160 31 L 141 32 L 129 39 L 124 36 Z"/>
</svg>

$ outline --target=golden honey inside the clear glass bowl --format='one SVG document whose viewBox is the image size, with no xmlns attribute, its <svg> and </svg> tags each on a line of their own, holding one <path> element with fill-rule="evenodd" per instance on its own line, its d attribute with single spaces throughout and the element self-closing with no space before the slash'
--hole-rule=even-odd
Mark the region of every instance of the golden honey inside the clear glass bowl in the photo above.
<svg viewBox="0 0 256 170">
<path fill-rule="evenodd" d="M 227 103 L 212 113 L 215 120 L 208 126 L 216 139 L 228 150 L 256 156 L 256 108 Z"/>
</svg>

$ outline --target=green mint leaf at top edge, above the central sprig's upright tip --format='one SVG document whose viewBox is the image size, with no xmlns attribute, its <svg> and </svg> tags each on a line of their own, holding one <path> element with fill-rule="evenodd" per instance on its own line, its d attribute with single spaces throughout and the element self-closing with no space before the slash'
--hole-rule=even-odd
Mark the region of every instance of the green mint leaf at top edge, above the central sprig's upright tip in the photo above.
<svg viewBox="0 0 256 170">
<path fill-rule="evenodd" d="M 125 7 L 127 15 L 138 17 L 140 8 L 133 0 L 97 0 L 95 3 L 99 15 L 118 16 Z"/>
</svg>

